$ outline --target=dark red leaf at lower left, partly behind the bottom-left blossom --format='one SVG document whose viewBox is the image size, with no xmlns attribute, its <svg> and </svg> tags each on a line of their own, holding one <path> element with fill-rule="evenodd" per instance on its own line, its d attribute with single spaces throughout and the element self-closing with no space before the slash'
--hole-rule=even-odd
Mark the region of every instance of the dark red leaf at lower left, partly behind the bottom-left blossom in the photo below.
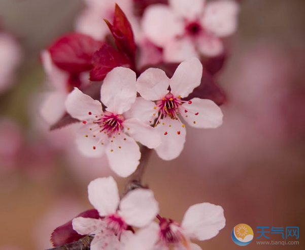
<svg viewBox="0 0 305 250">
<path fill-rule="evenodd" d="M 91 209 L 85 212 L 80 213 L 76 217 L 86 217 L 86 218 L 100 218 L 98 215 L 97 210 Z M 83 238 L 84 235 L 78 234 L 76 231 L 73 230 L 72 227 L 72 220 L 57 227 L 52 235 L 51 235 L 51 242 L 53 246 L 60 246 L 63 244 L 71 243 Z"/>
</svg>

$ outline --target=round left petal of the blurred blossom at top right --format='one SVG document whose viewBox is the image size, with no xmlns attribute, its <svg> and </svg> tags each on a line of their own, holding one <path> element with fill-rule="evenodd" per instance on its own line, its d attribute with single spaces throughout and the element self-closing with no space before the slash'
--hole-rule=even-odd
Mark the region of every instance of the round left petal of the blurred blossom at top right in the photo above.
<svg viewBox="0 0 305 250">
<path fill-rule="evenodd" d="M 157 46 L 163 47 L 168 41 L 184 31 L 184 21 L 166 5 L 151 5 L 144 12 L 143 32 Z"/>
</svg>

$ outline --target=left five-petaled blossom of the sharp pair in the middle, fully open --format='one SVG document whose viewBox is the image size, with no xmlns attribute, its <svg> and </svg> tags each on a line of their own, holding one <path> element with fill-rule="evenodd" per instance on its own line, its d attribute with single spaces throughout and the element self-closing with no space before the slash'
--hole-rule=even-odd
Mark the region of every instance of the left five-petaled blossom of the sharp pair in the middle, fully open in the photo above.
<svg viewBox="0 0 305 250">
<path fill-rule="evenodd" d="M 100 89 L 100 100 L 107 106 L 105 112 L 99 101 L 78 88 L 65 102 L 67 112 L 83 122 L 77 134 L 80 151 L 88 157 L 100 157 L 106 152 L 110 167 L 122 177 L 139 165 L 141 152 L 135 141 L 149 148 L 161 143 L 154 128 L 127 113 L 137 96 L 135 84 L 132 70 L 117 67 L 107 74 Z"/>
</svg>

